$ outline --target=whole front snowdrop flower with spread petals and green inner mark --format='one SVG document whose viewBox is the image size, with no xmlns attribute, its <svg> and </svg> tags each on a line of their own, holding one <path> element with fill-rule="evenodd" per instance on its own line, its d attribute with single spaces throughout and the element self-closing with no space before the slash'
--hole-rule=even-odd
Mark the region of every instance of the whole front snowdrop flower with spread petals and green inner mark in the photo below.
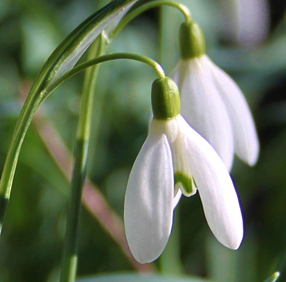
<svg viewBox="0 0 286 282">
<path fill-rule="evenodd" d="M 134 258 L 147 263 L 161 255 L 181 193 L 191 196 L 197 189 L 213 234 L 221 244 L 237 249 L 243 221 L 226 167 L 180 115 L 175 82 L 167 77 L 157 79 L 151 92 L 153 120 L 125 194 L 125 232 Z"/>
</svg>

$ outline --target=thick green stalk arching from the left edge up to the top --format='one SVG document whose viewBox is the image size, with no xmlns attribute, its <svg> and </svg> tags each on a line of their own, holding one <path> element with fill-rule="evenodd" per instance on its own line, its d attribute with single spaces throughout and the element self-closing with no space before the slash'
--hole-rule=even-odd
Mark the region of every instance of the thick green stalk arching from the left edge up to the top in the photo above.
<svg viewBox="0 0 286 282">
<path fill-rule="evenodd" d="M 60 69 L 69 56 L 72 56 L 77 47 L 85 42 L 86 38 L 89 38 L 89 35 L 94 32 L 94 30 L 104 29 L 108 18 L 116 12 L 120 12 L 125 5 L 132 4 L 132 2 L 134 2 L 134 0 L 113 1 L 88 17 L 55 49 L 38 74 L 15 126 L 2 171 L 0 181 L 0 233 L 24 137 L 35 112 L 43 102 L 43 98 L 46 99 L 49 95 L 49 93 L 45 93 L 43 97 L 42 89 L 48 86 L 49 82 L 56 75 L 57 70 Z M 89 39 L 91 40 L 91 38 Z"/>
</svg>

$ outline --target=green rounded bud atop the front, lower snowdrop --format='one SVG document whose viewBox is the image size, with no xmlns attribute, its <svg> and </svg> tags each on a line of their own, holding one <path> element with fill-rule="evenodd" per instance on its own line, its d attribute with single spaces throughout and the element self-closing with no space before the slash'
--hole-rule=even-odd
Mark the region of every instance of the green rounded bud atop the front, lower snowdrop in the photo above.
<svg viewBox="0 0 286 282">
<path fill-rule="evenodd" d="M 175 81 L 170 77 L 158 78 L 151 89 L 152 110 L 156 119 L 175 118 L 180 114 L 180 94 Z"/>
</svg>

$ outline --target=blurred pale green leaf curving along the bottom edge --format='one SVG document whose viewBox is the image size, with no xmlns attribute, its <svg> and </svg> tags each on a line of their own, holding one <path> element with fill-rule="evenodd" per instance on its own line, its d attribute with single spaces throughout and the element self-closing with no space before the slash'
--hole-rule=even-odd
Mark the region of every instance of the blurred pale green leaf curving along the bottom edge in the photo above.
<svg viewBox="0 0 286 282">
<path fill-rule="evenodd" d="M 187 276 L 163 276 L 142 274 L 106 274 L 78 279 L 77 282 L 209 282 L 201 278 Z M 268 281 L 267 281 L 268 282 Z"/>
</svg>

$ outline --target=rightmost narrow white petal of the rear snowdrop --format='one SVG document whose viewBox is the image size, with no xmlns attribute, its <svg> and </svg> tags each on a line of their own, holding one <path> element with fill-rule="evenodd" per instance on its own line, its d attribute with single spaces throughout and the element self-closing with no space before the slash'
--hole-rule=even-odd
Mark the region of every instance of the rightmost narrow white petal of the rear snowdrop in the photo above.
<svg viewBox="0 0 286 282">
<path fill-rule="evenodd" d="M 205 62 L 212 70 L 215 84 L 231 119 L 236 154 L 254 165 L 258 158 L 259 141 L 247 101 L 237 84 L 208 57 Z"/>
</svg>

